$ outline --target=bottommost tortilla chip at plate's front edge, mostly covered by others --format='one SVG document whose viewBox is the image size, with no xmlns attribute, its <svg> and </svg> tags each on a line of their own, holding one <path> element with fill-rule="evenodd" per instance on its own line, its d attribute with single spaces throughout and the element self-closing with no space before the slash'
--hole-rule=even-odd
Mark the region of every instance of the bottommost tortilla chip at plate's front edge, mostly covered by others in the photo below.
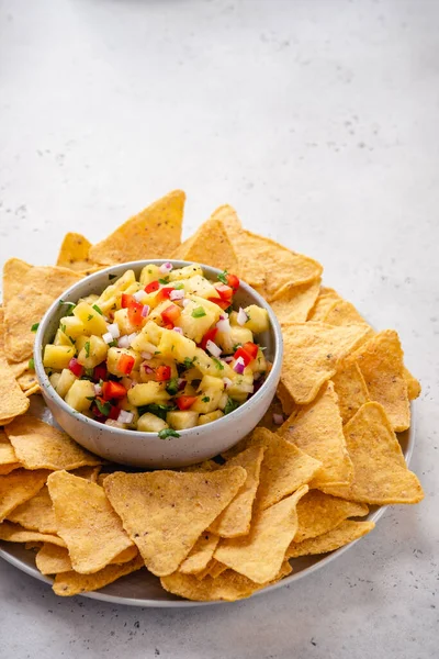
<svg viewBox="0 0 439 659">
<path fill-rule="evenodd" d="M 202 581 L 193 574 L 173 572 L 173 574 L 162 577 L 160 583 L 166 591 L 187 600 L 194 600 L 195 602 L 235 602 L 236 600 L 249 597 L 261 588 L 275 583 L 275 581 L 290 574 L 291 571 L 290 563 L 285 561 L 275 579 L 262 584 L 255 583 L 243 577 L 243 574 L 228 569 L 215 578 L 205 577 Z"/>
</svg>

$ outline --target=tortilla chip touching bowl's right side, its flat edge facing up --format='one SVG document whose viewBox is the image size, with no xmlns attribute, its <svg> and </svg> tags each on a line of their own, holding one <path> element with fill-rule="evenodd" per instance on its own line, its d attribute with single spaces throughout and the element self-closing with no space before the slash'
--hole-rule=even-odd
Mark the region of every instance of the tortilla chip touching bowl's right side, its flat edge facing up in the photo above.
<svg viewBox="0 0 439 659">
<path fill-rule="evenodd" d="M 284 360 L 281 381 L 301 405 L 311 403 L 337 365 L 365 336 L 367 327 L 334 327 L 323 323 L 282 325 Z"/>
</svg>

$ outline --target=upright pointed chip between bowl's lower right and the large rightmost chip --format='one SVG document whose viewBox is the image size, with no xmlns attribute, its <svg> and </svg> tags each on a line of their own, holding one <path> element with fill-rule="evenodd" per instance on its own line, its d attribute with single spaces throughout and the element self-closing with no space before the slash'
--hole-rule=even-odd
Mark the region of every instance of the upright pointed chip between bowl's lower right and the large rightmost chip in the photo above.
<svg viewBox="0 0 439 659">
<path fill-rule="evenodd" d="M 313 403 L 293 413 L 281 426 L 279 434 L 320 461 L 322 468 L 311 482 L 312 488 L 351 482 L 353 468 L 346 448 L 333 382 L 325 384 Z"/>
</svg>

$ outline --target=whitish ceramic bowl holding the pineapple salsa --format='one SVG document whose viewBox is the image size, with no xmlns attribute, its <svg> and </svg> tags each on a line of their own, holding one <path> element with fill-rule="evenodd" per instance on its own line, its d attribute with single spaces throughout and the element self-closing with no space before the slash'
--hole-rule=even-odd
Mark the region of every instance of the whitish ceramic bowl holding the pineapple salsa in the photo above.
<svg viewBox="0 0 439 659">
<path fill-rule="evenodd" d="M 251 287 L 241 282 L 235 295 L 235 305 L 258 304 L 267 309 L 270 328 L 258 335 L 258 339 L 261 345 L 267 346 L 266 356 L 272 362 L 272 369 L 259 391 L 240 407 L 212 423 L 179 431 L 179 437 L 160 439 L 157 433 L 113 428 L 76 412 L 56 393 L 43 367 L 44 346 L 53 340 L 59 326 L 59 319 L 66 312 L 66 308 L 59 304 L 60 300 L 76 303 L 79 298 L 91 293 L 99 294 L 114 278 L 110 279 L 109 275 L 121 277 L 125 270 L 133 269 L 138 277 L 142 268 L 148 263 L 161 265 L 166 261 L 145 260 L 113 266 L 90 275 L 63 293 L 40 323 L 34 348 L 35 372 L 43 396 L 55 420 L 85 448 L 113 462 L 133 467 L 183 467 L 212 458 L 234 446 L 252 431 L 274 396 L 282 366 L 282 333 L 270 305 Z M 189 265 L 187 261 L 179 260 L 171 263 L 177 268 Z M 210 279 L 216 279 L 221 272 L 210 266 L 202 265 L 202 268 Z"/>
</svg>

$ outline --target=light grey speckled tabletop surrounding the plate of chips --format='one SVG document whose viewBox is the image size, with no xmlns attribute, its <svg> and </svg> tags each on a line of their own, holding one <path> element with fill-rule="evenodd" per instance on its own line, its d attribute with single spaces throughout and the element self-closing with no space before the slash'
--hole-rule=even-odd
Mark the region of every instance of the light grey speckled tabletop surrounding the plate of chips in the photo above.
<svg viewBox="0 0 439 659">
<path fill-rule="evenodd" d="M 439 5 L 3 0 L 0 253 L 56 258 L 173 187 L 319 258 L 423 381 L 426 491 L 324 571 L 185 612 L 75 599 L 0 562 L 0 656 L 424 659 L 438 654 Z M 437 503 L 436 503 L 437 507 Z"/>
</svg>

